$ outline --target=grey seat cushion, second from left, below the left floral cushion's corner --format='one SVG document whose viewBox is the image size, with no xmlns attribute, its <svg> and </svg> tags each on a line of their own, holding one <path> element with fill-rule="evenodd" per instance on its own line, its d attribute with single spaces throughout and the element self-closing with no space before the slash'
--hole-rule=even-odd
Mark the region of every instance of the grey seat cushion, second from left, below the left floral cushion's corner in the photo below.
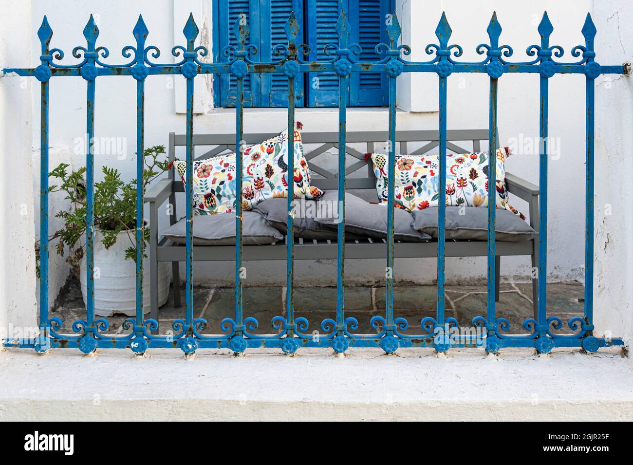
<svg viewBox="0 0 633 465">
<path fill-rule="evenodd" d="M 338 235 L 327 225 L 322 225 L 316 221 L 317 216 L 329 217 L 334 221 L 333 214 L 337 213 L 332 208 L 322 208 L 327 206 L 315 200 L 296 199 L 294 202 L 294 236 L 302 239 L 332 240 Z M 268 199 L 257 204 L 253 211 L 261 213 L 275 229 L 284 235 L 287 234 L 288 199 Z M 347 240 L 361 239 L 361 237 L 346 232 Z"/>
</svg>

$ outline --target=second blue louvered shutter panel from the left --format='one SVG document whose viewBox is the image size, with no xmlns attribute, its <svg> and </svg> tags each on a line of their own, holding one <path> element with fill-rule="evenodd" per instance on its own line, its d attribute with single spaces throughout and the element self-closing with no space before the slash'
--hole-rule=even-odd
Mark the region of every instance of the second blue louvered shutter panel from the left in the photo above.
<svg viewBox="0 0 633 465">
<path fill-rule="evenodd" d="M 275 56 L 273 47 L 287 44 L 284 26 L 294 10 L 299 23 L 300 34 L 296 44 L 303 39 L 303 0 L 261 0 L 260 1 L 260 61 L 279 61 L 283 56 Z M 303 75 L 295 79 L 295 105 L 303 106 Z M 283 73 L 261 73 L 261 106 L 288 106 L 288 78 Z"/>
</svg>

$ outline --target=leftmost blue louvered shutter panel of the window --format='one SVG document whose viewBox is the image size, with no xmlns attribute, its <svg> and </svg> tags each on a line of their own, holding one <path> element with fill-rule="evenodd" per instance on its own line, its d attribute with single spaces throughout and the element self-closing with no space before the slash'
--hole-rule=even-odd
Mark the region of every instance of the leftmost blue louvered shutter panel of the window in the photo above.
<svg viewBox="0 0 633 465">
<path fill-rule="evenodd" d="M 236 46 L 237 38 L 233 34 L 233 25 L 239 15 L 244 13 L 249 25 L 247 44 L 255 44 L 260 48 L 260 1 L 259 0 L 219 0 L 218 27 L 220 47 L 218 53 L 227 45 Z M 257 55 L 252 57 L 258 61 Z M 225 58 L 223 58 L 225 59 Z M 223 59 L 221 61 L 223 61 Z M 220 104 L 234 107 L 237 97 L 237 81 L 232 75 L 222 74 L 220 77 Z M 248 74 L 244 77 L 244 106 L 261 106 L 261 77 Z"/>
</svg>

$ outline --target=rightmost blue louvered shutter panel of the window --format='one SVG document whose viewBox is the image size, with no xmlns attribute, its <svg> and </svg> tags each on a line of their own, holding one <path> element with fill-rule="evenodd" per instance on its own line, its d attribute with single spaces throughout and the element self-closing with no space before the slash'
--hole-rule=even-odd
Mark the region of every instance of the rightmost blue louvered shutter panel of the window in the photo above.
<svg viewBox="0 0 633 465">
<path fill-rule="evenodd" d="M 362 47 L 363 61 L 380 59 L 375 46 L 388 44 L 386 15 L 393 13 L 391 0 L 356 0 L 349 2 L 351 41 Z M 389 87 L 385 73 L 352 73 L 349 85 L 350 106 L 387 106 Z"/>
</svg>

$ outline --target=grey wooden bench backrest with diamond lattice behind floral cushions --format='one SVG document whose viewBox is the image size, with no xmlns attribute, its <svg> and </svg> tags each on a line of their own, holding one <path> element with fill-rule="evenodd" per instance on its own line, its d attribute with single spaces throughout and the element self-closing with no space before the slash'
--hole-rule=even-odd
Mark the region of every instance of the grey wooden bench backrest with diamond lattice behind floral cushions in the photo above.
<svg viewBox="0 0 633 465">
<path fill-rule="evenodd" d="M 274 137 L 277 133 L 250 133 L 244 134 L 242 139 L 247 145 L 260 144 L 263 140 Z M 449 152 L 469 153 L 481 151 L 481 142 L 488 140 L 487 129 L 467 129 L 467 130 L 449 130 L 446 132 L 446 148 Z M 397 131 L 396 132 L 396 153 L 408 155 L 421 155 L 433 151 L 438 146 L 437 131 L 420 130 L 420 131 Z M 304 155 L 310 166 L 311 180 L 310 184 L 319 189 L 337 189 L 338 175 L 316 163 L 315 158 L 330 149 L 338 149 L 339 133 L 337 132 L 301 132 L 303 144 L 308 146 L 304 149 Z M 385 140 L 389 139 L 387 131 L 356 131 L 346 133 L 346 144 L 363 144 L 365 151 L 360 151 L 351 145 L 346 145 L 345 152 L 348 159 L 351 158 L 352 163 L 346 166 L 346 189 L 372 189 L 375 191 L 376 178 L 373 174 L 373 166 L 371 159 L 365 162 L 366 152 L 382 152 L 385 153 Z M 463 142 L 472 142 L 472 147 L 465 148 L 459 145 Z M 408 144 L 420 145 L 417 149 L 409 151 Z M 235 152 L 235 135 L 234 134 L 197 134 L 193 137 L 194 159 L 211 158 L 222 153 Z M 316 144 L 315 148 L 311 148 L 311 144 Z M 185 146 L 186 136 L 170 133 L 168 156 L 169 160 L 175 158 L 175 147 Z M 200 155 L 196 155 L 196 146 L 204 146 L 207 149 Z M 210 148 L 209 148 L 210 147 Z M 435 151 L 437 152 L 437 150 Z M 365 172 L 363 173 L 363 168 Z M 173 179 L 174 170 L 170 170 L 170 178 Z M 353 174 L 354 173 L 354 174 Z M 351 176 L 350 176 L 351 175 Z M 359 177 L 360 175 L 360 177 Z M 180 180 L 175 180 L 174 190 L 176 192 L 184 192 L 184 185 Z"/>
</svg>

